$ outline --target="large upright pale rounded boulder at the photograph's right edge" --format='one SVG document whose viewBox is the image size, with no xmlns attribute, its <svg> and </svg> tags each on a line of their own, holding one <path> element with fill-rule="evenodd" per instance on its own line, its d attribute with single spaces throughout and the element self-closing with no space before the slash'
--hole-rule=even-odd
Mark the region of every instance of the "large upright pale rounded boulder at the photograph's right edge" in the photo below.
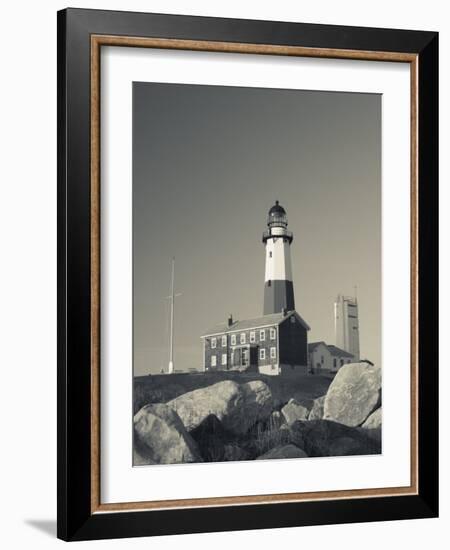
<svg viewBox="0 0 450 550">
<path fill-rule="evenodd" d="M 381 402 L 381 369 L 367 363 L 341 367 L 328 388 L 325 420 L 360 426 Z"/>
</svg>

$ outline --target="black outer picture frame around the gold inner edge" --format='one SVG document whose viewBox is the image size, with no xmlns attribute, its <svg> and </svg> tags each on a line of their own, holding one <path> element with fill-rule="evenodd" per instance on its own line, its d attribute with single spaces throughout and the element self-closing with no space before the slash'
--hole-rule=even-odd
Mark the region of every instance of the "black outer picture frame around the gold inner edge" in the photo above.
<svg viewBox="0 0 450 550">
<path fill-rule="evenodd" d="M 365 52 L 418 60 L 418 492 L 310 502 L 92 513 L 91 36 Z M 58 12 L 58 531 L 63 540 L 438 515 L 438 34 L 66 9 Z M 423 368 L 422 368 L 423 367 Z"/>
</svg>

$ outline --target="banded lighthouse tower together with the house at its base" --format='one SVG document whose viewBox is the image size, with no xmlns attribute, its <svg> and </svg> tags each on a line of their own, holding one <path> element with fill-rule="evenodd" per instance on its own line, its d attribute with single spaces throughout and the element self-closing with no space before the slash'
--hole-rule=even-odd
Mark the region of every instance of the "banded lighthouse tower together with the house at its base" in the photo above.
<svg viewBox="0 0 450 550">
<path fill-rule="evenodd" d="M 306 374 L 309 325 L 295 310 L 291 269 L 293 235 L 278 201 L 269 210 L 262 240 L 266 249 L 263 315 L 229 317 L 202 335 L 204 371 Z M 346 352 L 343 352 L 346 353 Z"/>
</svg>

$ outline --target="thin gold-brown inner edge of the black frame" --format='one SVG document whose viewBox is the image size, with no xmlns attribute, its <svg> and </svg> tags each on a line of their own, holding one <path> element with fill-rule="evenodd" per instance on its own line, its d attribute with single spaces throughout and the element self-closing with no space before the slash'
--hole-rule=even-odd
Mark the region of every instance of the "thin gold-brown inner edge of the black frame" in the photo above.
<svg viewBox="0 0 450 550">
<path fill-rule="evenodd" d="M 391 61 L 410 65 L 410 225 L 411 225 L 411 483 L 407 487 L 340 491 L 240 495 L 177 500 L 102 504 L 100 500 L 100 50 L 102 46 L 163 48 L 222 53 Z M 167 38 L 91 35 L 90 67 L 90 179 L 91 179 L 91 513 L 163 510 L 250 504 L 274 504 L 345 498 L 376 498 L 418 494 L 418 55 L 402 52 L 308 48 L 271 44 L 213 42 Z"/>
</svg>

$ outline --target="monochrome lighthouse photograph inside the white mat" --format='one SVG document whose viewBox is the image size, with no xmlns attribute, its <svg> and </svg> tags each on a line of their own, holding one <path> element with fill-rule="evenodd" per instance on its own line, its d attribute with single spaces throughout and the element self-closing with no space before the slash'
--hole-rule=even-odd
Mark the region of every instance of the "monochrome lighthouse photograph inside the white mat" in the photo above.
<svg viewBox="0 0 450 550">
<path fill-rule="evenodd" d="M 382 95 L 132 86 L 132 465 L 381 454 Z"/>
</svg>

